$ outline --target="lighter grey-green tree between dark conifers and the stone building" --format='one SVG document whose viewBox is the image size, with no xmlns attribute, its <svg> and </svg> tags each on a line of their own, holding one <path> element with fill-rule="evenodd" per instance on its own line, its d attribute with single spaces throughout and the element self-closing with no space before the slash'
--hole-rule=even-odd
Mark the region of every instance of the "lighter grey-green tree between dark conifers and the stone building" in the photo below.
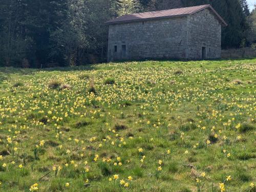
<svg viewBox="0 0 256 192">
<path fill-rule="evenodd" d="M 66 65 L 75 66 L 80 60 L 83 48 L 88 44 L 88 9 L 83 0 L 69 0 L 66 6 L 66 19 L 62 20 L 61 26 L 50 34 L 51 40 L 55 42 L 51 56 L 57 57 L 61 54 Z"/>
</svg>

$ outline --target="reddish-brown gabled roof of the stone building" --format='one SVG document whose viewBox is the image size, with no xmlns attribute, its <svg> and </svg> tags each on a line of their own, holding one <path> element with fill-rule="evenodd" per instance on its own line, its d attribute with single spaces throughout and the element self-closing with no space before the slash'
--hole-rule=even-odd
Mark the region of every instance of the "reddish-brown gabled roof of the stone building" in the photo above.
<svg viewBox="0 0 256 192">
<path fill-rule="evenodd" d="M 162 11 L 151 11 L 144 13 L 134 13 L 130 15 L 123 15 L 106 22 L 106 24 L 119 24 L 127 22 L 136 22 L 141 20 L 151 20 L 151 19 L 160 19 L 160 18 L 170 18 L 170 17 L 180 17 L 195 14 L 204 9 L 209 9 L 219 20 L 223 26 L 227 26 L 227 23 L 224 19 L 212 8 L 210 5 L 200 5 L 194 7 L 184 7 L 178 9 L 168 9 Z"/>
</svg>

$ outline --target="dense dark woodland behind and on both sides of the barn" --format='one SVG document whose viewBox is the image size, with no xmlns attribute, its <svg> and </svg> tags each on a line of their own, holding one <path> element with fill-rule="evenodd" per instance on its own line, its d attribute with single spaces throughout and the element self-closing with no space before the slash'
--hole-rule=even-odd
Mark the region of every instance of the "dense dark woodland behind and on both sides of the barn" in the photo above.
<svg viewBox="0 0 256 192">
<path fill-rule="evenodd" d="M 104 62 L 111 18 L 211 4 L 228 23 L 222 48 L 255 45 L 246 0 L 1 0 L 0 66 L 45 68 Z"/>
</svg>

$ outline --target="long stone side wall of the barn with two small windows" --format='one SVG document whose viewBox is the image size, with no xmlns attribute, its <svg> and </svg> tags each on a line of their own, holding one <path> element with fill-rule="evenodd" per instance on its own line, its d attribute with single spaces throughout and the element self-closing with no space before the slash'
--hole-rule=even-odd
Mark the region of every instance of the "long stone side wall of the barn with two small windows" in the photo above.
<svg viewBox="0 0 256 192">
<path fill-rule="evenodd" d="M 110 25 L 108 60 L 185 58 L 186 23 L 186 17 L 175 17 Z"/>
</svg>

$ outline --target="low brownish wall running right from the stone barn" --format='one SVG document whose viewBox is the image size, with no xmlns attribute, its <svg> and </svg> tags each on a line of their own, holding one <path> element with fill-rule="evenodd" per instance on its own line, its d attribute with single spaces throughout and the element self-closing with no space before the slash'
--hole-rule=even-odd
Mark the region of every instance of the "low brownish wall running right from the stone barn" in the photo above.
<svg viewBox="0 0 256 192">
<path fill-rule="evenodd" d="M 243 58 L 243 57 L 256 57 L 256 49 L 227 49 L 221 50 L 221 58 Z"/>
</svg>

